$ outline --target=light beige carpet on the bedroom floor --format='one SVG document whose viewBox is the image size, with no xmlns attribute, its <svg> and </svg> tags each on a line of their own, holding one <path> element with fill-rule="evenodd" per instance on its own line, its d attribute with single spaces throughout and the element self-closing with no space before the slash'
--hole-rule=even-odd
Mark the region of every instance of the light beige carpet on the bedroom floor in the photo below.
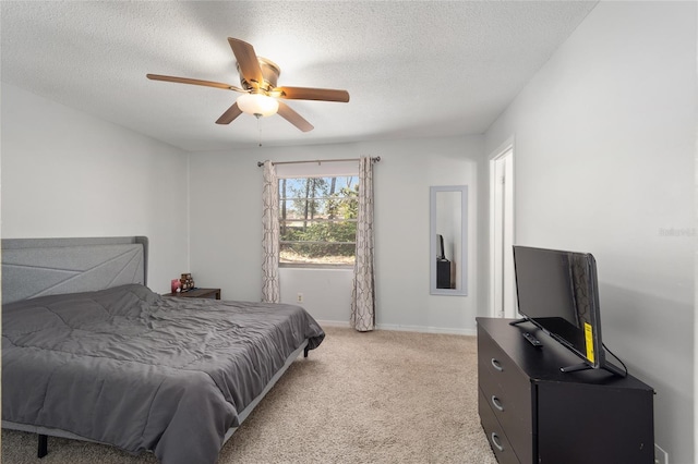
<svg viewBox="0 0 698 464">
<path fill-rule="evenodd" d="M 474 337 L 327 327 L 225 444 L 219 464 L 496 461 L 478 417 Z M 2 463 L 156 463 L 112 447 L 2 431 Z M 192 463 L 195 464 L 195 463 Z"/>
</svg>

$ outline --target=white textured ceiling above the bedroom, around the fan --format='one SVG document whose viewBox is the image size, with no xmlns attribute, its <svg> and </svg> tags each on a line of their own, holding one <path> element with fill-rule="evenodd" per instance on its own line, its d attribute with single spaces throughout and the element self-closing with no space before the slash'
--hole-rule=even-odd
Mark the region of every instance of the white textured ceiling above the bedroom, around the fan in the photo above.
<svg viewBox="0 0 698 464">
<path fill-rule="evenodd" d="M 484 132 L 595 1 L 2 1 L 1 80 L 185 150 Z M 240 95 L 227 37 L 278 85 L 347 89 L 279 115 L 215 121 Z"/>
</svg>

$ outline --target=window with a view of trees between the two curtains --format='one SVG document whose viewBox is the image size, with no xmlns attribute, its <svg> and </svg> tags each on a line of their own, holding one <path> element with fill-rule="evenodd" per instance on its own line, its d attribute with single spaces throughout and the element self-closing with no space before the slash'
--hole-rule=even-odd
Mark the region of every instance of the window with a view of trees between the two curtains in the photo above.
<svg viewBox="0 0 698 464">
<path fill-rule="evenodd" d="M 353 266 L 359 178 L 279 179 L 279 265 Z"/>
</svg>

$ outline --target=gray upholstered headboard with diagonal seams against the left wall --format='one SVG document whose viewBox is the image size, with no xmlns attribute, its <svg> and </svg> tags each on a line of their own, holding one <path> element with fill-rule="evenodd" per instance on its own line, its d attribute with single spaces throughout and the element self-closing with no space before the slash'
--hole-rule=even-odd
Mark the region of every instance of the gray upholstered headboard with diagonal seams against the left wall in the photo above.
<svg viewBox="0 0 698 464">
<path fill-rule="evenodd" d="M 147 283 L 145 236 L 3 239 L 2 303 Z"/>
</svg>

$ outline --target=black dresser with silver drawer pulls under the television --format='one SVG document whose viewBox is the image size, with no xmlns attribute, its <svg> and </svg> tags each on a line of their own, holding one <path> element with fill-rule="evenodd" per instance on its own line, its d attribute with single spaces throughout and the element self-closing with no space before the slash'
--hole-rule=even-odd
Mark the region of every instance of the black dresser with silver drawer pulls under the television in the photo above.
<svg viewBox="0 0 698 464">
<path fill-rule="evenodd" d="M 562 373 L 580 359 L 512 320 L 478 318 L 478 410 L 500 464 L 652 464 L 653 389 L 606 370 Z"/>
</svg>

